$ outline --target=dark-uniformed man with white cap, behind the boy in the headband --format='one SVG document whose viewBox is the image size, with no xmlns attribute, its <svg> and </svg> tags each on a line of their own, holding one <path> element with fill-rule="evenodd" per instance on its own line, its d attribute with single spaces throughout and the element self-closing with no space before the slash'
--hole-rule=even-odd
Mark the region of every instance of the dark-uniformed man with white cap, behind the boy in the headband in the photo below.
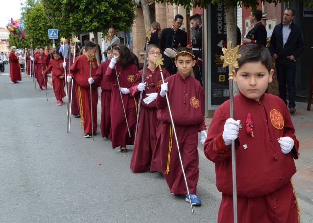
<svg viewBox="0 0 313 223">
<path fill-rule="evenodd" d="M 169 54 L 165 52 L 166 48 L 177 49 L 179 47 L 187 46 L 187 33 L 180 29 L 183 25 L 184 17 L 180 14 L 174 18 L 173 26 L 171 28 L 165 28 L 162 30 L 161 38 L 158 47 L 163 52 L 164 65 L 170 74 L 176 73 L 176 66 L 174 64 L 174 58 L 171 58 Z"/>
</svg>

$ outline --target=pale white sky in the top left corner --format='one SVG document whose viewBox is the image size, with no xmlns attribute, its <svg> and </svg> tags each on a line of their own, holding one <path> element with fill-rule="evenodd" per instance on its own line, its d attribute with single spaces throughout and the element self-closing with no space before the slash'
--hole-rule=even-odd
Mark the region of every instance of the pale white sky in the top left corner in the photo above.
<svg viewBox="0 0 313 223">
<path fill-rule="evenodd" d="M 21 0 L 22 4 L 26 0 Z M 6 28 L 8 22 L 13 18 L 14 20 L 19 19 L 22 13 L 20 0 L 0 0 L 0 27 Z"/>
</svg>

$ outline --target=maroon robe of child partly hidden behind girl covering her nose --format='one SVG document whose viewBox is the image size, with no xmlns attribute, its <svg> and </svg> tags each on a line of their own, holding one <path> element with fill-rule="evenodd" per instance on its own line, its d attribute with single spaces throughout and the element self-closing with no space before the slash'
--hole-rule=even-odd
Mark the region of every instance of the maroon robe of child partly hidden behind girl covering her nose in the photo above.
<svg viewBox="0 0 313 223">
<path fill-rule="evenodd" d="M 106 74 L 107 68 L 110 64 L 110 61 L 104 61 L 100 64 L 97 74 L 101 75 L 101 124 L 100 130 L 102 138 L 107 137 L 112 139 L 111 131 L 111 115 L 110 115 L 110 104 L 111 104 L 111 90 L 112 83 L 106 80 L 103 76 Z"/>
</svg>

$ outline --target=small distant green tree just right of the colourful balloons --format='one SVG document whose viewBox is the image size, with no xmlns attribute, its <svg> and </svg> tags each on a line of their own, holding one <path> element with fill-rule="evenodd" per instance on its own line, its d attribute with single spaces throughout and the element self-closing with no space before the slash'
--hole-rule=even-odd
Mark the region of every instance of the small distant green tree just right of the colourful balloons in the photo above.
<svg viewBox="0 0 313 223">
<path fill-rule="evenodd" d="M 49 45 L 48 29 L 50 28 L 51 25 L 42 4 L 36 4 L 25 14 L 25 39 L 28 43 L 33 40 L 34 46 Z"/>
</svg>

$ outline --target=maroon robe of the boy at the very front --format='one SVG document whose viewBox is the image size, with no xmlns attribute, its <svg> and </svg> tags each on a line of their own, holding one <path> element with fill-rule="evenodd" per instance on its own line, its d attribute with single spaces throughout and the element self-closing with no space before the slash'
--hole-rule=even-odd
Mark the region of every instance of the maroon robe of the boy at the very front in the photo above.
<svg viewBox="0 0 313 223">
<path fill-rule="evenodd" d="M 295 223 L 297 210 L 290 183 L 296 173 L 293 158 L 298 158 L 299 142 L 288 108 L 277 96 L 264 94 L 259 102 L 241 93 L 234 97 L 235 120 L 242 129 L 236 140 L 236 178 L 238 222 Z M 245 125 L 253 121 L 253 137 Z M 219 223 L 233 222 L 231 146 L 222 137 L 230 117 L 229 100 L 215 112 L 204 144 L 205 156 L 215 163 L 216 186 L 222 192 Z M 294 148 L 283 154 L 278 138 L 289 136 Z"/>
</svg>

